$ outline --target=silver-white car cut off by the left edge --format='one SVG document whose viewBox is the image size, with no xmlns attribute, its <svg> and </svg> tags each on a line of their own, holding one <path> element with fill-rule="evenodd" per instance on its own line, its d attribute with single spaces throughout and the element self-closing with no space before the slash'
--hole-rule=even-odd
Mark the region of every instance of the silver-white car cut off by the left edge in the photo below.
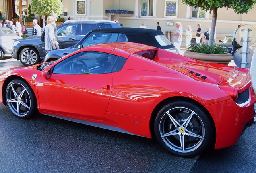
<svg viewBox="0 0 256 173">
<path fill-rule="evenodd" d="M 0 59 L 4 58 L 4 55 L 12 53 L 13 42 L 19 38 L 21 37 L 17 36 L 10 28 L 0 27 Z"/>
</svg>

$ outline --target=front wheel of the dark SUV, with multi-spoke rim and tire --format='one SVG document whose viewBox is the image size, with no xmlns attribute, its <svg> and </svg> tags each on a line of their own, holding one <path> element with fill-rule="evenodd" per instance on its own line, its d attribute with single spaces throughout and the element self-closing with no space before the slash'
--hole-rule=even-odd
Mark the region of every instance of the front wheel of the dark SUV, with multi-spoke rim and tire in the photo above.
<svg viewBox="0 0 256 173">
<path fill-rule="evenodd" d="M 40 56 L 35 48 L 27 47 L 21 50 L 19 54 L 21 64 L 24 66 L 32 66 L 38 64 L 40 61 Z"/>
</svg>

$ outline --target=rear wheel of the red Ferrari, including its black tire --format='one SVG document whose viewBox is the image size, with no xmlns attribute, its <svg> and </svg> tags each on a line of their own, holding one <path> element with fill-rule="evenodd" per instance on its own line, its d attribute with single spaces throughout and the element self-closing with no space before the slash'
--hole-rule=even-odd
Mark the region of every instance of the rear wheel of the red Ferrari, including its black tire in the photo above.
<svg viewBox="0 0 256 173">
<path fill-rule="evenodd" d="M 213 140 L 209 113 L 188 101 L 175 101 L 162 107 L 155 119 L 154 131 L 159 143 L 171 154 L 194 157 Z"/>
</svg>

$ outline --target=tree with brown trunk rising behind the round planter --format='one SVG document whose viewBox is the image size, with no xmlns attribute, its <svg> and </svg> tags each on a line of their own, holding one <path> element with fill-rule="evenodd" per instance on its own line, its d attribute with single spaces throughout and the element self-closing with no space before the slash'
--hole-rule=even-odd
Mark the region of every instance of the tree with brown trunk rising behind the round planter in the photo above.
<svg viewBox="0 0 256 173">
<path fill-rule="evenodd" d="M 182 3 L 193 7 L 200 7 L 206 11 L 210 10 L 210 13 L 213 12 L 210 33 L 215 33 L 218 8 L 231 8 L 237 14 L 247 14 L 253 8 L 256 0 L 182 0 Z M 209 44 L 213 44 L 213 42 L 214 35 L 210 34 Z"/>
</svg>

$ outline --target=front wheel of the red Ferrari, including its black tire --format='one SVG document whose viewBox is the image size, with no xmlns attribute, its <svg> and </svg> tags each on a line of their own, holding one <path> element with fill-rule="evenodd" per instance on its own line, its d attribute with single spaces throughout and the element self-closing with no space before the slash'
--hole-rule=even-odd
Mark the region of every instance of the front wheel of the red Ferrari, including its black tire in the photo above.
<svg viewBox="0 0 256 173">
<path fill-rule="evenodd" d="M 22 119 L 30 118 L 37 113 L 35 94 L 26 82 L 12 80 L 6 89 L 6 103 L 12 113 Z"/>
</svg>

